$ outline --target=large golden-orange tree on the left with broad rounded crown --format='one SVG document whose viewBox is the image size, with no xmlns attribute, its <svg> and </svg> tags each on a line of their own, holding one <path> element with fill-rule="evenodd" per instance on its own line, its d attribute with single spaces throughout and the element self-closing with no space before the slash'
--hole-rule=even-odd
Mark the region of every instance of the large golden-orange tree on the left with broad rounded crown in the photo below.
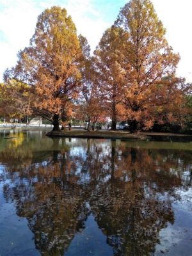
<svg viewBox="0 0 192 256">
<path fill-rule="evenodd" d="M 6 70 L 4 79 L 31 86 L 35 95 L 31 109 L 59 131 L 68 101 L 77 97 L 81 84 L 81 58 L 74 22 L 64 8 L 53 6 L 38 17 L 30 46 L 19 52 L 17 65 Z"/>
</svg>

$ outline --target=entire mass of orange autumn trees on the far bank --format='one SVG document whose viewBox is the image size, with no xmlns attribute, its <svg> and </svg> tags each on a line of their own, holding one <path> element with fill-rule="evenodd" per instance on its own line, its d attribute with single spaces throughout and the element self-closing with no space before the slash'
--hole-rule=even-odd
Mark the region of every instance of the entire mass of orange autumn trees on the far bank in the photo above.
<svg viewBox="0 0 192 256">
<path fill-rule="evenodd" d="M 6 98 L 10 108 L 2 103 L 1 111 L 42 116 L 55 131 L 72 117 L 88 120 L 89 126 L 111 118 L 111 129 L 118 121 L 128 121 L 132 132 L 154 124 L 184 124 L 191 84 L 177 77 L 180 57 L 165 32 L 149 0 L 131 0 L 92 57 L 67 11 L 46 9 L 38 17 L 30 46 L 4 73 L 6 83 L 14 79 L 25 84 L 29 95 L 22 95 L 26 88 L 21 92 L 12 86 Z"/>
</svg>

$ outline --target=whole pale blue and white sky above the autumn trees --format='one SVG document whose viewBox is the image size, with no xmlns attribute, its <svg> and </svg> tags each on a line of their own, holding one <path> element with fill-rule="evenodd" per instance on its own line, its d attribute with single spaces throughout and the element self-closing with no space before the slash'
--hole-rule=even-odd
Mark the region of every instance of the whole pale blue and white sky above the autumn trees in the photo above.
<svg viewBox="0 0 192 256">
<path fill-rule="evenodd" d="M 65 7 L 77 32 L 86 36 L 93 51 L 125 3 L 126 0 L 0 0 L 0 82 L 4 70 L 15 65 L 17 52 L 29 45 L 36 19 L 45 8 Z M 166 28 L 169 44 L 180 53 L 177 74 L 192 82 L 192 0 L 152 0 L 152 3 Z"/>
</svg>

